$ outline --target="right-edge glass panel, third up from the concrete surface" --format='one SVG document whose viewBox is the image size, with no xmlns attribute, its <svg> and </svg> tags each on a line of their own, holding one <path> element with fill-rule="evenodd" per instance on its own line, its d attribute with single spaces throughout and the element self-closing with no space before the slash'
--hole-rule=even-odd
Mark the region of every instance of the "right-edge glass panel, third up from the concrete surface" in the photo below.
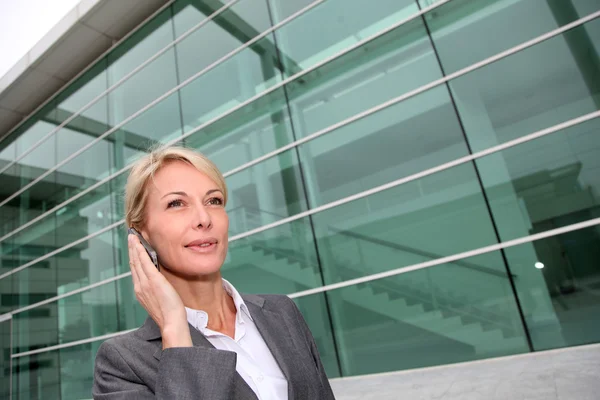
<svg viewBox="0 0 600 400">
<path fill-rule="evenodd" d="M 586 27 L 600 27 L 600 20 Z M 597 53 L 589 41 L 569 39 L 584 33 L 575 28 L 451 82 L 473 151 L 599 109 Z"/>
</svg>

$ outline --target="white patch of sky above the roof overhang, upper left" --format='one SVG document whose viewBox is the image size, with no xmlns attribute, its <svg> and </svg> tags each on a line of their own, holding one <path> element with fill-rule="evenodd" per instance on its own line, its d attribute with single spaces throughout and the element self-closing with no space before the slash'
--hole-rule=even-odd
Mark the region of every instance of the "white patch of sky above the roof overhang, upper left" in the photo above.
<svg viewBox="0 0 600 400">
<path fill-rule="evenodd" d="M 0 0 L 0 77 L 81 0 Z"/>
</svg>

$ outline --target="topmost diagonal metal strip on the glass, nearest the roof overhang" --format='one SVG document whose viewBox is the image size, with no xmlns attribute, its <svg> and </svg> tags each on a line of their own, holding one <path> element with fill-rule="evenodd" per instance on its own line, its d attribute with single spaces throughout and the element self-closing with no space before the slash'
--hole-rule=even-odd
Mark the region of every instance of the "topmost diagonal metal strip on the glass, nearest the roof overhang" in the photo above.
<svg viewBox="0 0 600 400">
<path fill-rule="evenodd" d="M 163 47 L 156 54 L 154 54 L 153 56 L 151 56 L 150 58 L 148 58 L 146 61 L 144 61 L 139 66 L 137 66 L 135 69 L 133 69 L 127 75 L 125 75 L 124 77 L 122 77 L 121 79 L 119 79 L 114 85 L 112 85 L 111 87 L 109 87 L 108 89 L 106 89 L 105 91 L 103 91 L 102 93 L 100 93 L 98 96 L 96 96 L 95 98 L 93 98 L 90 102 L 88 102 L 86 105 L 84 105 L 82 108 L 80 108 L 77 112 L 75 112 L 74 114 L 72 114 L 69 118 L 67 118 L 66 120 L 64 120 L 61 124 L 59 124 L 54 129 L 52 129 L 50 132 L 48 132 L 46 135 L 44 135 L 40 140 L 38 140 L 37 142 L 35 142 L 31 147 L 29 147 L 21 155 L 19 155 L 17 158 L 15 158 L 14 161 L 9 162 L 6 166 L 4 166 L 4 168 L 0 169 L 0 174 L 4 173 L 6 170 L 8 170 L 14 164 L 18 163 L 20 160 L 22 160 L 24 157 L 26 157 L 28 154 L 30 154 L 33 150 L 35 150 L 36 148 L 38 148 L 42 143 L 44 143 L 49 137 L 51 137 L 56 132 L 58 132 L 59 130 L 61 130 L 62 128 L 64 128 L 69 122 L 73 121 L 75 118 L 77 118 L 79 115 L 81 115 L 81 113 L 83 113 L 85 110 L 87 110 L 88 108 L 90 108 L 91 106 L 93 106 L 94 104 L 96 104 L 104 96 L 106 96 L 107 94 L 109 94 L 113 90 L 117 89 L 119 86 L 121 86 L 123 83 L 125 83 L 133 75 L 135 75 L 139 71 L 141 71 L 144 67 L 146 67 L 148 64 L 150 64 L 152 61 L 156 60 L 158 57 L 160 57 L 161 55 L 163 55 L 164 53 L 166 53 L 169 49 L 171 49 L 177 43 L 181 42 L 183 39 L 185 39 L 186 37 L 188 37 L 189 35 L 191 35 L 195 31 L 197 31 L 198 29 L 200 29 L 203 25 L 205 25 L 206 23 L 208 23 L 211 20 L 213 20 L 216 16 L 218 16 L 219 14 L 221 14 L 223 11 L 227 10 L 229 7 L 231 7 L 232 5 L 234 5 L 235 3 L 237 3 L 238 1 L 240 1 L 240 0 L 232 0 L 231 2 L 225 4 L 223 7 L 221 7 L 217 11 L 215 11 L 213 14 L 209 15 L 208 17 L 206 17 L 205 19 L 203 19 L 202 21 L 200 21 L 198 24 L 196 24 L 195 26 L 193 26 L 192 28 L 190 28 L 187 32 L 185 32 L 184 34 L 182 34 L 176 40 L 174 40 L 173 42 L 171 42 L 168 45 L 166 45 L 165 47 Z M 111 50 L 112 49 L 113 48 L 111 48 Z M 103 54 L 103 56 L 104 56 L 104 54 Z"/>
</svg>

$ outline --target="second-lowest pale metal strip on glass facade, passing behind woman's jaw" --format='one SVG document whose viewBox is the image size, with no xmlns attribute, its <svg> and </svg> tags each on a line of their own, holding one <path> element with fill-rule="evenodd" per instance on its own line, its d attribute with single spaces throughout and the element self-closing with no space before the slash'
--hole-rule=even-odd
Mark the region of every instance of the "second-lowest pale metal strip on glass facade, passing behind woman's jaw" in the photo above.
<svg viewBox="0 0 600 400">
<path fill-rule="evenodd" d="M 563 122 L 563 123 L 555 125 L 553 127 L 550 127 L 550 128 L 547 128 L 547 129 L 543 129 L 541 131 L 537 131 L 537 132 L 531 133 L 529 135 L 523 136 L 523 137 L 518 138 L 518 139 L 511 140 L 510 142 L 506 142 L 506 143 L 503 143 L 501 145 L 497 145 L 497 146 L 491 147 L 489 149 L 482 150 L 480 152 L 471 154 L 469 156 L 461 157 L 461 158 L 456 159 L 454 161 L 450 161 L 448 163 L 441 164 L 441 165 L 439 165 L 437 167 L 430 168 L 428 170 L 419 172 L 417 174 L 413 174 L 413 175 L 407 176 L 405 178 L 401 178 L 401 179 L 395 180 L 393 182 L 390 182 L 390 183 L 387 183 L 387 184 L 384 184 L 384 185 L 381 185 L 381 186 L 377 186 L 377 187 L 375 187 L 373 189 L 365 190 L 365 191 L 357 193 L 355 195 L 348 196 L 346 198 L 343 198 L 343 199 L 340 199 L 340 200 L 337 200 L 337 201 L 333 201 L 331 203 L 325 204 L 325 205 L 320 206 L 320 207 L 313 208 L 311 210 L 307 210 L 305 212 L 302 212 L 300 214 L 294 215 L 292 217 L 284 218 L 284 219 L 282 219 L 280 221 L 277 221 L 277 222 L 274 222 L 272 224 L 264 225 L 262 227 L 254 229 L 254 230 L 245 232 L 243 234 L 233 236 L 233 237 L 231 237 L 229 239 L 229 242 L 231 243 L 231 242 L 234 242 L 236 240 L 239 240 L 239 239 L 242 239 L 242 238 L 245 238 L 245 237 L 248 237 L 248 236 L 251 236 L 251 235 L 263 232 L 263 231 L 266 231 L 268 229 L 272 229 L 274 227 L 277 227 L 277 226 L 280 226 L 280 225 L 283 225 L 283 224 L 286 224 L 286 223 L 289 223 L 289 222 L 293 222 L 293 221 L 301 219 L 301 218 L 305 218 L 305 217 L 307 217 L 309 215 L 313 215 L 313 214 L 319 213 L 321 211 L 325 211 L 325 210 L 328 210 L 328 209 L 331 209 L 331 208 L 334 208 L 334 207 L 337 207 L 337 206 L 349 203 L 351 201 L 358 200 L 358 199 L 370 196 L 372 194 L 379 193 L 381 191 L 384 191 L 384 190 L 387 190 L 387 189 L 390 189 L 390 188 L 402 185 L 404 183 L 411 182 L 411 181 L 414 181 L 416 179 L 420 179 L 420 178 L 428 176 L 428 175 L 432 175 L 432 174 L 434 174 L 436 172 L 444 171 L 446 169 L 449 169 L 449 168 L 452 168 L 452 167 L 455 167 L 455 166 L 458 166 L 458 165 L 461 165 L 461 164 L 465 164 L 467 162 L 471 162 L 471 161 L 473 161 L 473 160 L 475 160 L 477 158 L 481 158 L 481 157 L 484 157 L 484 156 L 487 156 L 487 155 L 490 155 L 490 154 L 493 154 L 493 153 L 497 153 L 499 151 L 502 151 L 502 150 L 505 150 L 505 149 L 517 146 L 517 145 L 519 145 L 521 143 L 525 143 L 525 142 L 528 142 L 528 141 L 531 141 L 531 140 L 534 140 L 534 139 L 537 139 L 537 138 L 549 135 L 551 133 L 558 132 L 558 131 L 561 131 L 563 129 L 570 128 L 572 126 L 579 125 L 581 123 L 584 123 L 586 121 L 590 121 L 590 120 L 592 120 L 594 118 L 598 118 L 598 117 L 600 117 L 600 111 L 596 111 L 594 113 L 586 114 L 584 116 L 581 116 L 581 117 L 578 117 L 578 118 L 575 118 L 575 119 Z M 122 224 L 124 222 L 125 222 L 124 220 L 118 221 L 118 222 L 114 223 L 113 225 L 111 225 L 111 228 L 114 227 L 114 226 L 117 226 L 118 224 Z M 96 233 L 94 233 L 92 235 L 96 235 Z M 11 272 L 12 271 L 9 271 L 6 274 L 10 274 Z M 126 278 L 129 275 L 131 275 L 131 273 L 130 272 L 126 272 L 126 273 L 120 275 L 120 277 L 121 278 Z M 119 279 L 121 279 L 121 278 L 119 278 Z M 106 279 L 104 281 L 100 281 L 100 282 L 94 283 L 93 285 L 77 289 L 77 290 L 75 290 L 73 292 L 64 293 L 64 294 L 62 294 L 60 296 L 56 296 L 56 298 L 58 298 L 58 297 L 60 297 L 60 298 L 68 297 L 71 294 L 80 293 L 81 291 L 86 290 L 86 288 L 90 288 L 92 286 L 93 287 L 101 286 L 104 283 L 113 282 L 114 280 L 115 280 L 114 278 L 109 278 L 109 279 Z M 13 310 L 11 312 L 11 314 L 18 314 L 20 312 L 23 312 L 25 309 L 29 310 L 31 308 L 35 308 L 38 305 L 41 305 L 42 303 L 46 304 L 47 302 L 49 302 L 49 300 L 50 299 L 44 300 L 43 302 L 39 302 L 39 303 L 35 303 L 35 304 L 32 304 L 32 305 L 29 305 L 29 306 L 24 307 L 24 308 L 19 308 L 19 309 Z"/>
</svg>

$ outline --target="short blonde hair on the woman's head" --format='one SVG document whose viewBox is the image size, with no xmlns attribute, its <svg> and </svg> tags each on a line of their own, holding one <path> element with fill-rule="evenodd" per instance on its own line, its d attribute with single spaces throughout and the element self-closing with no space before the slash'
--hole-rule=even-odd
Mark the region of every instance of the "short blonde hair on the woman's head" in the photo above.
<svg viewBox="0 0 600 400">
<path fill-rule="evenodd" d="M 137 160 L 125 185 L 125 222 L 127 227 L 140 228 L 144 224 L 144 209 L 148 199 L 148 181 L 154 174 L 174 161 L 181 161 L 195 167 L 217 184 L 223 192 L 223 203 L 227 204 L 227 186 L 221 171 L 203 154 L 181 146 L 169 146 L 150 151 Z"/>
</svg>

